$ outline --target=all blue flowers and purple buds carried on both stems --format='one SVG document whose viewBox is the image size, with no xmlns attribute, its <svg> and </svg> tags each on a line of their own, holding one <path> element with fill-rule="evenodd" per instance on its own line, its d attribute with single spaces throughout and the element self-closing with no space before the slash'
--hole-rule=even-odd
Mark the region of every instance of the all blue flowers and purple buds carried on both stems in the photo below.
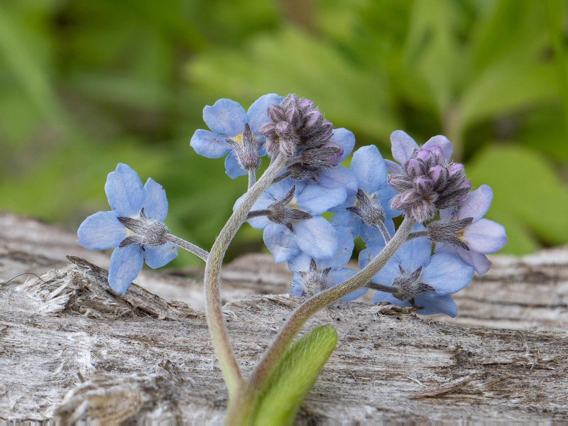
<svg viewBox="0 0 568 426">
<path fill-rule="evenodd" d="M 470 283 L 474 271 L 486 273 L 491 266 L 486 254 L 506 244 L 503 226 L 484 219 L 491 188 L 471 190 L 444 136 L 419 146 L 395 131 L 395 161 L 384 160 L 376 146 L 362 146 L 347 168 L 342 162 L 354 149 L 353 133 L 334 129 L 309 99 L 266 94 L 248 111 L 219 99 L 204 108 L 203 118 L 210 131 L 195 131 L 191 146 L 207 158 L 226 155 L 226 174 L 233 179 L 248 174 L 249 190 L 264 155 L 280 162 L 268 186 L 248 204 L 253 207 L 246 220 L 263 230 L 275 261 L 288 263 L 294 296 L 315 295 L 354 277 L 358 268 L 349 264 L 354 241 L 365 244 L 359 268 L 366 268 L 398 232 L 393 219 L 403 216 L 414 224 L 408 239 L 371 281 L 344 300 L 372 289 L 373 302 L 455 316 L 452 294 Z M 168 202 L 153 180 L 142 186 L 129 166 L 119 164 L 105 189 L 111 212 L 88 217 L 79 242 L 90 249 L 114 248 L 109 283 L 124 293 L 143 260 L 152 268 L 163 266 L 183 240 L 163 225 Z M 235 210 L 242 210 L 250 193 L 236 201 Z M 190 245 L 183 242 L 184 248 Z"/>
</svg>

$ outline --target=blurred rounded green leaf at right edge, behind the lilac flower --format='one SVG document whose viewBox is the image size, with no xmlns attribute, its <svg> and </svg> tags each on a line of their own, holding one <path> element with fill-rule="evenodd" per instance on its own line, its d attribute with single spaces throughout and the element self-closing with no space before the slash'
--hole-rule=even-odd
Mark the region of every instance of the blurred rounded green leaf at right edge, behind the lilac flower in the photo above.
<svg viewBox="0 0 568 426">
<path fill-rule="evenodd" d="M 502 252 L 530 253 L 544 244 L 568 242 L 568 188 L 540 155 L 518 146 L 493 146 L 468 165 L 474 186 L 493 188 L 488 219 L 509 237 Z"/>
</svg>

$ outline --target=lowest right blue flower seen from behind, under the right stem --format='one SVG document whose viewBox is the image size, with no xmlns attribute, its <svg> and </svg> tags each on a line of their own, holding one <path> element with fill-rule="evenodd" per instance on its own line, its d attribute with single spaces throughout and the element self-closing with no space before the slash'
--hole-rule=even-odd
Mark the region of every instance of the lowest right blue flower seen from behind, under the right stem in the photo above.
<svg viewBox="0 0 568 426">
<path fill-rule="evenodd" d="M 424 227 L 417 224 L 416 231 Z M 383 246 L 361 251 L 359 266 L 363 268 Z M 421 315 L 457 315 L 452 294 L 471 282 L 474 268 L 452 253 L 431 256 L 432 244 L 425 237 L 406 242 L 391 260 L 373 277 L 371 288 L 377 293 L 373 302 L 390 302 L 398 306 L 417 306 Z"/>
</svg>

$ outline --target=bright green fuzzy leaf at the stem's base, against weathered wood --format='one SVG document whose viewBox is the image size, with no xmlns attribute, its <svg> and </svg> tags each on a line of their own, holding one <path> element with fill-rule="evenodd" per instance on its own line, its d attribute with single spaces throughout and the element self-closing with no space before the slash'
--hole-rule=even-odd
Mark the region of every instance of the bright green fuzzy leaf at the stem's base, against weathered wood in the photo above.
<svg viewBox="0 0 568 426">
<path fill-rule="evenodd" d="M 259 398 L 255 425 L 291 425 L 337 344 L 331 325 L 316 327 L 286 351 Z"/>
</svg>

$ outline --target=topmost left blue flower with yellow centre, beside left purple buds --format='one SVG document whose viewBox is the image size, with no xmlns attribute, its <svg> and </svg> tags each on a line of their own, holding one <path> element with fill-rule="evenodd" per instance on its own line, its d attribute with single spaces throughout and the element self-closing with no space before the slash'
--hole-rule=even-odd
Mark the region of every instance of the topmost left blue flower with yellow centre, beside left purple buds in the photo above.
<svg viewBox="0 0 568 426">
<path fill-rule="evenodd" d="M 246 159 L 242 155 L 239 162 L 240 148 L 245 143 L 250 143 L 258 153 L 257 160 L 260 155 L 264 155 L 265 151 L 261 146 L 265 138 L 258 129 L 269 121 L 268 107 L 280 104 L 283 99 L 275 93 L 265 94 L 251 105 L 249 111 L 245 111 L 239 103 L 231 99 L 219 99 L 212 107 L 207 105 L 203 109 L 203 120 L 211 131 L 195 131 L 190 144 L 196 153 L 207 158 L 221 158 L 229 153 L 225 159 L 226 174 L 231 179 L 246 175 L 247 170 L 241 164 Z M 251 138 L 246 137 L 247 128 L 251 132 Z M 249 165 L 246 167 L 249 168 Z M 250 168 L 256 170 L 254 165 Z"/>
</svg>

